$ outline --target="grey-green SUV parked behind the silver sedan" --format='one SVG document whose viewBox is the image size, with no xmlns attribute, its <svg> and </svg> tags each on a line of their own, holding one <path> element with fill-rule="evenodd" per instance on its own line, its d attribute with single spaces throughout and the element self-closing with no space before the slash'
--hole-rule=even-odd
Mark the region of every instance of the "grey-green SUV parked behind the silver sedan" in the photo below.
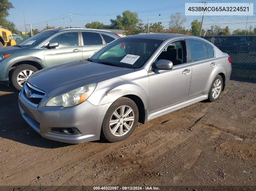
<svg viewBox="0 0 256 191">
<path fill-rule="evenodd" d="M 9 78 L 18 90 L 34 72 L 53 65 L 87 59 L 106 44 L 119 38 L 115 33 L 96 29 L 51 29 L 16 46 L 0 50 L 0 83 Z"/>
</svg>

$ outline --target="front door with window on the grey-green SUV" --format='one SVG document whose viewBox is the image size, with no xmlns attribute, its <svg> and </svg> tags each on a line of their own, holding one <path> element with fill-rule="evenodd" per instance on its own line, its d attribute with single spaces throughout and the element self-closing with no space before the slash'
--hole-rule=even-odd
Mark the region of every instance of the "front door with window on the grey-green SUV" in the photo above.
<svg viewBox="0 0 256 191">
<path fill-rule="evenodd" d="M 58 42 L 53 49 L 44 49 L 47 67 L 82 60 L 82 47 L 78 40 L 78 32 L 66 32 L 53 37 L 49 42 Z"/>
</svg>

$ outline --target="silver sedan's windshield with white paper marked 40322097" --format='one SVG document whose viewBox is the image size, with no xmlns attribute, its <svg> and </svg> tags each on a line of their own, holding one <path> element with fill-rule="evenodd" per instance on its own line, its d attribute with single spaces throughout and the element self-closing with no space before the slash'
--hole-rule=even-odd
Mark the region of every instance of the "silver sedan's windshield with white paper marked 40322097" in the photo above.
<svg viewBox="0 0 256 191">
<path fill-rule="evenodd" d="M 161 40 L 119 38 L 90 57 L 90 61 L 125 68 L 140 68 L 162 43 Z"/>
</svg>

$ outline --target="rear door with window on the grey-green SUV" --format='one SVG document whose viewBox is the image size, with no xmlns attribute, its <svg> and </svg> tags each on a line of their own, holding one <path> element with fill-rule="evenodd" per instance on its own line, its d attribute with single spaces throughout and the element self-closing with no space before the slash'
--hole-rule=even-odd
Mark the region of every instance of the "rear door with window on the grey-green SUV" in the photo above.
<svg viewBox="0 0 256 191">
<path fill-rule="evenodd" d="M 93 53 L 106 45 L 101 33 L 81 31 L 83 59 L 89 58 Z"/>
</svg>

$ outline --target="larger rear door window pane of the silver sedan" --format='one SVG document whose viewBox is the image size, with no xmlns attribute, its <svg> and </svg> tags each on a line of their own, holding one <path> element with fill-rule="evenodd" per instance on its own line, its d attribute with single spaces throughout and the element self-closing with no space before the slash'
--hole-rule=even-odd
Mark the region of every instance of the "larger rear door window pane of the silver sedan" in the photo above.
<svg viewBox="0 0 256 191">
<path fill-rule="evenodd" d="M 191 62 L 208 58 L 206 43 L 201 40 L 188 39 Z"/>
</svg>

